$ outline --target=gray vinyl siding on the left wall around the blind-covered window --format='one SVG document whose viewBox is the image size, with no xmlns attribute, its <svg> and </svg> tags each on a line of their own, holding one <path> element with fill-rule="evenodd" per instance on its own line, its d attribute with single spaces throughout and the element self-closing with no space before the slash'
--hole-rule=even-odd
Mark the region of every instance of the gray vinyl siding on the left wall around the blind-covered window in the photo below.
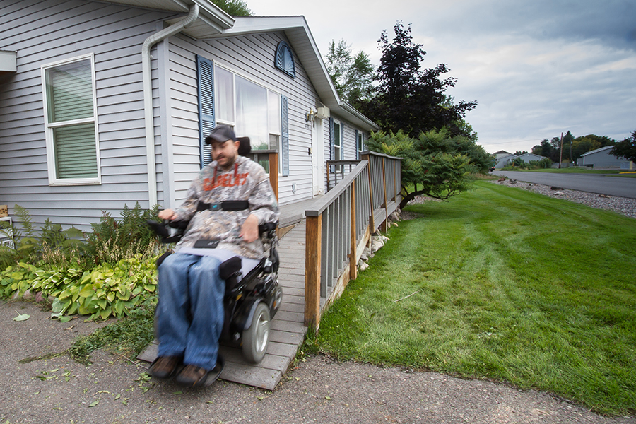
<svg viewBox="0 0 636 424">
<path fill-rule="evenodd" d="M 141 45 L 168 15 L 82 0 L 3 0 L 0 16 L 0 49 L 18 52 L 17 73 L 0 80 L 0 204 L 10 213 L 14 204 L 27 208 L 36 228 L 50 218 L 82 230 L 102 211 L 118 217 L 136 201 L 148 208 Z M 87 53 L 95 55 L 101 184 L 51 187 L 40 67 Z"/>
</svg>

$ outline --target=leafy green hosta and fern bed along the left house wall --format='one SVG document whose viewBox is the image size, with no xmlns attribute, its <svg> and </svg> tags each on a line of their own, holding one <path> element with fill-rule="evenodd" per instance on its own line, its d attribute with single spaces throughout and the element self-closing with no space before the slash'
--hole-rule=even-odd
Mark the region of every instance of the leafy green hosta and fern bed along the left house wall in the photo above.
<svg viewBox="0 0 636 424">
<path fill-rule="evenodd" d="M 0 298 L 41 292 L 55 298 L 52 316 L 64 320 L 128 315 L 155 297 L 160 245 L 146 220 L 157 214 L 158 207 L 143 211 L 137 203 L 124 206 L 121 220 L 104 213 L 86 235 L 48 219 L 38 235 L 28 211 L 16 205 L 16 249 L 0 249 Z"/>
</svg>

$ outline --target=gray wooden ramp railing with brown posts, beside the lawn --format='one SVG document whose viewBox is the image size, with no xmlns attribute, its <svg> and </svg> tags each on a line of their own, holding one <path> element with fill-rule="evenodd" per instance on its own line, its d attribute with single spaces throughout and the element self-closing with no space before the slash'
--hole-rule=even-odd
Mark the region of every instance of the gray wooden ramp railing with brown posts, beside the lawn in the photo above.
<svg viewBox="0 0 636 424">
<path fill-rule="evenodd" d="M 374 152 L 305 210 L 305 325 L 318 329 L 321 311 L 358 277 L 358 260 L 373 232 L 387 230 L 399 205 L 400 161 Z"/>
</svg>

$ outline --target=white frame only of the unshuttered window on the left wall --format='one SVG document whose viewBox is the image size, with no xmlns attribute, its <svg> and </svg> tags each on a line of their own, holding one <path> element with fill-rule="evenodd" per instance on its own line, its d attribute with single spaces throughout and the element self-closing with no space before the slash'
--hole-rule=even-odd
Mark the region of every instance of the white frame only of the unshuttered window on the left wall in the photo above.
<svg viewBox="0 0 636 424">
<path fill-rule="evenodd" d="M 65 64 L 71 64 L 76 61 L 83 61 L 90 59 L 90 78 L 93 86 L 93 117 L 82 119 L 71 119 L 62 122 L 49 122 L 49 110 L 48 110 L 48 91 L 47 91 L 47 70 L 54 68 L 55 66 L 61 66 Z M 88 184 L 101 184 L 102 173 L 100 166 L 100 137 L 98 131 L 98 119 L 97 119 L 97 95 L 95 90 L 95 55 L 93 53 L 83 54 L 82 56 L 72 57 L 70 59 L 64 59 L 55 61 L 50 64 L 42 65 L 42 100 L 44 104 L 44 118 L 45 118 L 45 138 L 47 142 L 47 167 L 49 172 L 49 185 L 88 185 Z M 58 178 L 56 173 L 55 163 L 55 141 L 54 141 L 54 129 L 62 128 L 64 126 L 72 126 L 76 124 L 88 124 L 93 122 L 95 125 L 95 158 L 97 161 L 97 177 L 88 178 Z"/>
</svg>

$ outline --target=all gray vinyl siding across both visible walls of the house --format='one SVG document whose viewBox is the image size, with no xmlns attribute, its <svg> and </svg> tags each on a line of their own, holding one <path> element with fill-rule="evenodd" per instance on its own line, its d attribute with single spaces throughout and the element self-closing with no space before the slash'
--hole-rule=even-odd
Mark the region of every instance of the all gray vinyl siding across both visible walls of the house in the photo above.
<svg viewBox="0 0 636 424">
<path fill-rule="evenodd" d="M 148 208 L 141 46 L 170 13 L 97 1 L 2 0 L 0 49 L 17 53 L 18 71 L 0 78 L 0 204 L 20 204 L 33 223 L 47 218 L 90 230 L 102 211 L 118 217 L 136 201 Z M 283 32 L 197 41 L 175 35 L 153 48 L 153 107 L 158 203 L 182 203 L 199 172 L 196 55 L 288 98 L 289 175 L 279 176 L 281 204 L 312 197 L 311 126 L 305 114 L 320 105 L 307 72 L 296 78 L 274 68 Z M 100 185 L 49 186 L 41 66 L 95 55 Z M 295 54 L 295 52 L 294 52 Z M 344 158 L 355 158 L 355 127 L 344 124 Z M 329 119 L 324 119 L 329 160 Z M 240 134 L 239 134 L 240 135 Z M 295 193 L 292 192 L 295 184 Z"/>
</svg>

